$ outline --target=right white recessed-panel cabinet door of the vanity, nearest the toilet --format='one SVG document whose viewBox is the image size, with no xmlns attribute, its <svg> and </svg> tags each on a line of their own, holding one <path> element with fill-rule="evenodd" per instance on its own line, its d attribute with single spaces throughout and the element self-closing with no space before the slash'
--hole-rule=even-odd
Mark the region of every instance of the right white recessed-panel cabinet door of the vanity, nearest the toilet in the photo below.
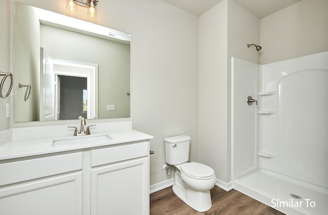
<svg viewBox="0 0 328 215">
<path fill-rule="evenodd" d="M 91 214 L 148 214 L 148 157 L 91 170 Z"/>
</svg>

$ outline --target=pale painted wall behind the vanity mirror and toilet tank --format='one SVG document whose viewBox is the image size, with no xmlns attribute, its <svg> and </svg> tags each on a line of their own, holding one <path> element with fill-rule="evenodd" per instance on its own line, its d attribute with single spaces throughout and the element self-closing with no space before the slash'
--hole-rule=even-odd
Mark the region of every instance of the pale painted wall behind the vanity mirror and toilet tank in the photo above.
<svg viewBox="0 0 328 215">
<path fill-rule="evenodd" d="M 162 169 L 165 164 L 163 139 L 168 136 L 190 135 L 191 160 L 197 161 L 197 16 L 161 0 L 100 1 L 96 18 L 89 18 L 85 8 L 81 7 L 77 13 L 69 12 L 66 1 L 19 2 L 131 33 L 131 118 L 120 120 L 132 120 L 134 129 L 155 137 L 151 141 L 155 154 L 151 155 L 150 184 L 168 180 Z M 9 43 L 8 36 L 6 41 Z M 9 55 L 8 49 L 7 52 Z M 1 115 L 5 113 L 3 106 L 1 104 Z M 117 120 L 93 122 L 104 121 Z M 70 122 L 13 123 L 11 119 L 10 127 Z"/>
</svg>

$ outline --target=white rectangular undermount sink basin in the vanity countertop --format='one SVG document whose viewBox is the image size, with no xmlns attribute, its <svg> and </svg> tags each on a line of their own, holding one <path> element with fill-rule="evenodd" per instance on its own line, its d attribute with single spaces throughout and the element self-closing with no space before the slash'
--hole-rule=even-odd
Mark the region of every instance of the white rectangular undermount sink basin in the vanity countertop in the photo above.
<svg viewBox="0 0 328 215">
<path fill-rule="evenodd" d="M 52 141 L 51 146 L 64 146 L 64 145 L 75 145 L 75 144 L 93 144 L 97 142 L 103 142 L 107 140 L 112 140 L 113 138 L 107 134 L 101 135 L 83 135 L 83 136 L 73 136 L 72 138 L 61 138 Z"/>
</svg>

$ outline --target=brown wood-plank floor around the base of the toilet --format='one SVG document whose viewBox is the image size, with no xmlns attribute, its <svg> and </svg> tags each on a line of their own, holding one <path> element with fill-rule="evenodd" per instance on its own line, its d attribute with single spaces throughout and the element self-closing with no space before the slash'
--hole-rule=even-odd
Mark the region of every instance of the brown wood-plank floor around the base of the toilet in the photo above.
<svg viewBox="0 0 328 215">
<path fill-rule="evenodd" d="M 284 214 L 234 189 L 227 192 L 215 186 L 211 189 L 211 197 L 212 208 L 198 212 L 175 196 L 172 187 L 168 187 L 150 194 L 150 214 Z"/>
</svg>

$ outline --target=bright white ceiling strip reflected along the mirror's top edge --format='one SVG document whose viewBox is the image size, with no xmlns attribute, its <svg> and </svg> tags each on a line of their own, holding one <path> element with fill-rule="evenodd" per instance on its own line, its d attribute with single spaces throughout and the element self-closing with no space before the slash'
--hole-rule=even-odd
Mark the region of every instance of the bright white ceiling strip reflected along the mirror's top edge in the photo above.
<svg viewBox="0 0 328 215">
<path fill-rule="evenodd" d="M 82 31 L 100 34 L 106 37 L 114 37 L 121 41 L 130 41 L 130 34 L 117 31 L 115 29 L 100 26 L 94 23 L 86 22 L 77 18 L 50 12 L 47 10 L 35 8 L 35 12 L 40 21 L 54 23 L 61 26 L 68 26 Z M 114 36 L 113 36 L 114 35 Z"/>
</svg>

